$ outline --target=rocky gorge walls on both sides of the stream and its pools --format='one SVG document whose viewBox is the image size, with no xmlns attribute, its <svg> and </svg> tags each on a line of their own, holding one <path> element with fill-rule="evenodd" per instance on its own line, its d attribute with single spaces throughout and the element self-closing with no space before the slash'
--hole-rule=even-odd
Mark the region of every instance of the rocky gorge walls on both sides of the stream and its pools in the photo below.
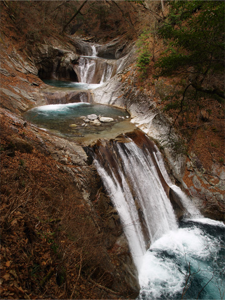
<svg viewBox="0 0 225 300">
<path fill-rule="evenodd" d="M 140 130 L 141 134 L 146 134 L 160 148 L 172 183 L 178 185 L 191 198 L 203 216 L 220 221 L 223 221 L 224 217 L 225 170 L 224 165 L 217 161 L 214 161 L 210 166 L 204 165 L 198 153 L 195 153 L 195 149 L 191 152 L 186 151 L 182 136 L 176 129 L 171 129 L 170 117 L 161 110 L 161 95 L 166 93 L 163 85 L 156 83 L 151 91 L 138 87 L 137 74 L 133 68 L 136 61 L 136 48 L 133 42 L 128 42 L 124 38 L 117 38 L 107 43 L 95 45 L 97 55 L 102 60 L 97 64 L 94 80 L 91 83 L 100 84 L 102 70 L 106 69 L 106 64 L 113 65 L 109 78 L 105 81 L 103 79 L 101 85 L 95 89 L 62 88 L 60 90 L 43 83 L 42 80 L 44 79 L 81 82 L 79 62 L 81 56 L 92 57 L 93 44 L 81 37 L 72 38 L 68 36 L 68 40 L 64 44 L 52 40 L 51 43 L 48 41 L 45 44 L 35 44 L 28 52 L 23 52 L 13 46 L 6 36 L 1 35 L 2 163 L 3 171 L 6 173 L 10 168 L 15 168 L 15 173 L 18 171 L 17 175 L 14 174 L 11 182 L 16 182 L 18 185 L 16 193 L 20 199 L 20 202 L 17 203 L 17 197 L 15 207 L 11 205 L 11 210 L 6 213 L 3 239 L 6 238 L 9 230 L 16 232 L 18 229 L 14 227 L 20 223 L 22 228 L 20 239 L 21 241 L 27 240 L 27 243 L 32 247 L 44 233 L 44 229 L 39 228 L 41 222 L 38 212 L 35 212 L 32 217 L 29 216 L 29 210 L 26 210 L 27 204 L 23 202 L 24 200 L 20 195 L 26 193 L 28 204 L 30 201 L 34 201 L 36 207 L 40 201 L 49 203 L 44 218 L 46 226 L 49 226 L 47 231 L 48 234 L 51 230 L 53 232 L 51 226 L 55 226 L 54 231 L 58 227 L 58 232 L 54 242 L 47 242 L 47 239 L 46 242 L 49 249 L 57 244 L 59 250 L 58 253 L 57 251 L 54 254 L 51 253 L 50 259 L 48 257 L 49 260 L 44 259 L 45 264 L 39 261 L 38 263 L 37 261 L 30 262 L 32 267 L 35 264 L 41 265 L 43 277 L 46 278 L 47 276 L 44 282 L 40 283 L 41 288 L 50 284 L 53 278 L 57 281 L 57 274 L 59 273 L 67 272 L 68 276 L 75 273 L 72 266 L 73 262 L 63 261 L 63 258 L 67 259 L 73 255 L 73 251 L 77 251 L 77 261 L 74 263 L 77 268 L 76 276 L 71 276 L 73 283 L 67 289 L 68 294 L 65 293 L 65 290 L 63 291 L 62 287 L 60 288 L 62 285 L 57 283 L 59 286 L 57 297 L 82 297 L 82 286 L 85 286 L 85 289 L 94 290 L 99 298 L 136 298 L 140 290 L 137 265 L 130 254 L 127 237 L 123 231 L 123 222 L 114 203 L 107 195 L 90 154 L 91 148 L 105 147 L 105 143 L 108 141 L 97 142 L 96 140 L 92 142 L 92 145 L 72 142 L 51 134 L 48 130 L 40 129 L 35 123 L 26 120 L 22 114 L 34 107 L 80 102 L 114 106 L 126 110 L 137 131 Z M 104 117 L 99 116 L 98 118 L 97 115 L 93 117 L 87 115 L 88 122 L 95 122 L 96 126 L 97 122 L 99 126 L 101 122 L 113 121 L 110 118 L 106 120 Z M 86 121 L 84 118 L 83 122 Z M 132 134 L 126 135 L 124 133 L 116 140 L 126 143 L 127 141 L 124 139 L 130 135 Z M 110 142 L 113 143 L 112 140 Z M 103 143 L 103 145 L 99 146 L 99 143 Z M 16 167 L 12 165 L 11 160 L 14 161 Z M 40 169 L 35 166 L 34 160 L 38 160 L 42 164 Z M 44 164 L 48 166 L 46 170 L 44 170 Z M 57 178 L 57 180 L 55 179 L 57 182 L 68 181 L 69 185 L 73 186 L 72 195 L 68 194 L 70 193 L 69 187 L 60 183 L 61 185 L 58 184 L 57 187 L 54 187 L 58 189 L 56 194 L 53 193 L 53 198 L 57 198 L 55 203 L 50 198 L 48 191 L 44 191 L 40 198 L 36 199 L 32 188 L 26 186 L 31 174 L 35 180 L 39 180 L 40 190 L 43 189 L 45 182 L 48 182 L 48 177 L 53 177 L 53 181 L 54 178 Z M 165 189 L 167 189 L 177 218 L 181 219 L 185 214 L 183 205 L 174 196 L 169 186 Z M 28 191 L 29 194 L 27 194 Z M 3 181 L 3 194 L 6 199 L 10 197 L 11 192 L 13 191 L 5 179 Z M 70 201 L 67 201 L 66 197 Z M 79 201 L 74 198 L 79 199 Z M 70 202 L 72 200 L 74 201 L 74 208 L 71 208 Z M 6 210 L 8 209 L 8 202 L 6 201 L 4 204 Z M 73 204 L 73 202 L 71 203 Z M 57 210 L 57 206 L 60 207 L 59 210 Z M 82 218 L 79 220 L 74 218 L 75 208 L 77 212 L 84 212 L 81 213 Z M 26 215 L 27 220 L 23 214 Z M 12 223 L 9 226 L 10 218 L 15 221 L 11 220 Z M 63 229 L 68 220 L 71 228 Z M 86 233 L 79 236 L 82 224 L 84 228 L 88 224 L 91 236 L 85 235 Z M 74 228 L 73 232 L 72 229 Z M 62 234 L 63 230 L 65 233 Z M 42 233 L 40 234 L 40 232 Z M 92 238 L 95 240 L 93 244 L 90 242 Z M 83 251 L 84 243 L 87 244 L 85 251 Z M 5 253 L 4 263 L 7 264 L 10 261 L 16 272 L 16 276 L 11 274 L 8 278 L 4 278 L 3 290 L 7 293 L 8 281 L 12 278 L 15 281 L 18 280 L 20 270 L 18 270 L 12 254 L 11 256 L 9 254 L 9 246 L 3 244 L 2 247 L 2 251 Z M 69 248 L 70 250 L 68 250 Z M 38 250 L 35 249 L 35 251 Z M 21 255 L 24 255 L 26 260 L 27 254 Z M 6 274 L 7 272 L 4 273 L 4 276 Z M 80 289 L 76 294 L 74 286 L 78 285 L 81 277 L 83 280 L 79 282 Z M 32 284 L 35 285 L 35 279 L 30 277 L 29 272 L 27 280 L 33 281 Z M 62 282 L 63 284 L 66 282 L 65 276 Z M 21 284 L 21 289 L 19 289 L 18 283 L 14 286 L 18 298 L 38 295 L 38 290 L 33 294 L 26 292 L 25 290 L 32 290 L 26 285 Z M 85 292 L 84 297 L 88 298 L 88 294 Z"/>
</svg>

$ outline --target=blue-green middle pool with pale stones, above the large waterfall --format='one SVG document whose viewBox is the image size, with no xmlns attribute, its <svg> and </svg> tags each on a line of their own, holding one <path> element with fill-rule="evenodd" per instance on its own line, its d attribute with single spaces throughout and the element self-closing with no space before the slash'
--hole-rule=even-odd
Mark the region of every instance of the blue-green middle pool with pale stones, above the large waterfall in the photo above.
<svg viewBox="0 0 225 300">
<path fill-rule="evenodd" d="M 113 122 L 101 123 L 96 127 L 91 123 L 84 124 L 83 118 L 90 114 L 111 117 Z M 125 110 L 115 107 L 89 104 L 69 103 L 54 104 L 33 108 L 24 114 L 24 117 L 38 127 L 64 137 L 69 140 L 89 143 L 99 138 L 115 138 L 122 132 L 132 131 L 135 126 L 127 119 Z M 124 119 L 123 119 L 123 118 Z M 76 124 L 76 128 L 71 128 Z"/>
</svg>

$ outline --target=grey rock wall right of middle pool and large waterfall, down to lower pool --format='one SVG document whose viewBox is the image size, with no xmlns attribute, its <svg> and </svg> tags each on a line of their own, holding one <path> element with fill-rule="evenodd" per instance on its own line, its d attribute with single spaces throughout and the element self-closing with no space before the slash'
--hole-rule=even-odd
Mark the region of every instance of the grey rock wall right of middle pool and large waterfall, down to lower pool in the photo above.
<svg viewBox="0 0 225 300">
<path fill-rule="evenodd" d="M 128 67 L 126 71 L 129 70 Z M 131 122 L 156 141 L 163 149 L 176 184 L 192 197 L 204 216 L 217 220 L 224 219 L 224 167 L 214 164 L 209 175 L 202 169 L 201 162 L 194 154 L 189 156 L 186 166 L 187 157 L 184 154 L 183 141 L 173 128 L 170 130 L 171 121 L 158 109 L 153 99 L 154 95 L 146 94 L 132 86 L 132 77 L 122 81 L 120 73 L 93 92 L 95 102 L 126 109 L 132 118 Z M 170 198 L 179 217 L 182 212 L 175 204 L 176 199 L 173 199 L 172 194 Z"/>
</svg>

